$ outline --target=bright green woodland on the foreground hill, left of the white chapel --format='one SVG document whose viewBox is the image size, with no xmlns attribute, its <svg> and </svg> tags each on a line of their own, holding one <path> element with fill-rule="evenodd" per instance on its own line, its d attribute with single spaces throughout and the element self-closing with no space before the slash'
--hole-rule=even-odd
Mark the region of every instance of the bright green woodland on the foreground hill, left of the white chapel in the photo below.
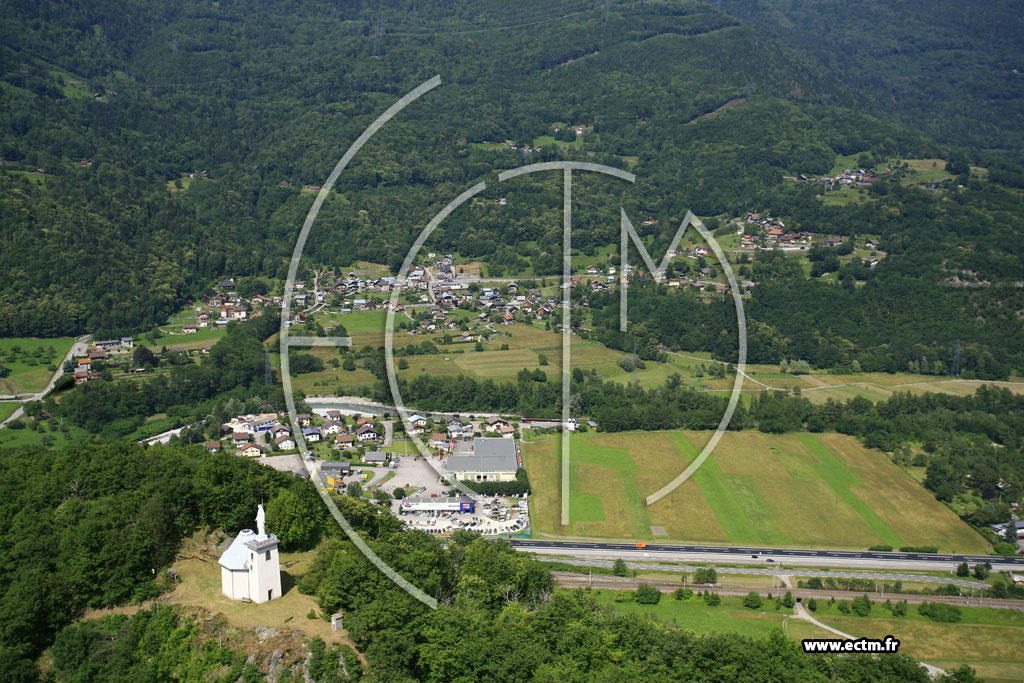
<svg viewBox="0 0 1024 683">
<path fill-rule="evenodd" d="M 327 517 L 307 482 L 201 447 L 108 441 L 0 456 L 0 670 L 7 676 L 31 672 L 83 609 L 159 595 L 155 570 L 197 528 L 252 526 L 256 505 L 283 492 L 309 519 Z"/>
</svg>

